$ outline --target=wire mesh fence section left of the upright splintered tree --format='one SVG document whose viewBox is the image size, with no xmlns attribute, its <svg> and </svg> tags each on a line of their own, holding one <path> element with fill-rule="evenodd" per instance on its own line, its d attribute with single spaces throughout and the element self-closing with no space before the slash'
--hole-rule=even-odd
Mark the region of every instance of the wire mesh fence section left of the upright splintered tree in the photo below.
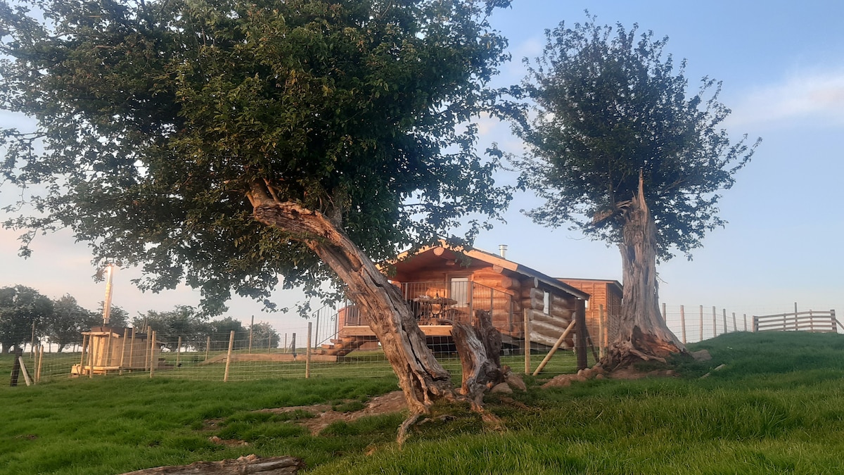
<svg viewBox="0 0 844 475">
<path fill-rule="evenodd" d="M 314 322 L 312 322 L 314 323 Z M 143 375 L 150 378 L 184 378 L 219 381 L 273 378 L 320 378 L 358 377 L 368 378 L 392 375 L 392 367 L 377 341 L 368 341 L 344 356 L 320 354 L 317 339 L 311 333 L 311 347 L 308 347 L 308 328 L 288 328 L 280 332 L 279 341 L 255 339 L 234 339 L 231 335 L 165 336 L 154 335 L 154 342 L 133 355 L 133 361 L 142 364 L 121 365 L 122 347 L 114 341 L 111 348 L 118 348 L 110 355 L 107 343 L 89 342 L 82 351 L 35 352 L 24 355 L 25 367 L 36 381 L 51 378 L 84 377 L 99 378 L 104 375 Z M 311 325 L 311 332 L 314 331 Z M 178 341 L 181 345 L 165 346 L 162 341 Z M 192 341 L 191 343 L 186 343 Z M 452 374 L 457 383 L 462 378 L 461 363 L 451 337 L 427 338 L 428 347 L 437 361 Z M 136 346 L 136 351 L 137 350 Z M 128 350 L 126 350 L 128 352 Z M 549 347 L 532 343 L 530 351 L 510 343 L 502 348 L 500 359 L 517 372 L 533 372 L 538 363 L 548 354 Z M 597 355 L 597 350 L 590 355 Z M 111 359 L 110 359 L 111 358 Z M 122 356 L 127 361 L 127 353 Z M 590 356 L 589 364 L 597 363 Z M 527 362 L 527 363 L 526 363 Z M 549 358 L 542 370 L 543 377 L 568 374 L 577 371 L 576 348 L 563 347 Z"/>
</svg>

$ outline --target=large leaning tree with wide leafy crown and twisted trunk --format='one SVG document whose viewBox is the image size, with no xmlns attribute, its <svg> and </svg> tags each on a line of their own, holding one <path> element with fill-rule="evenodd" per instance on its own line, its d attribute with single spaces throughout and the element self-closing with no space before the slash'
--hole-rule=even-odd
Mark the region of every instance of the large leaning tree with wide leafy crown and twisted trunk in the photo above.
<svg viewBox="0 0 844 475">
<path fill-rule="evenodd" d="M 0 107 L 38 128 L 3 132 L 0 167 L 44 212 L 9 226 L 70 227 L 209 314 L 333 277 L 412 411 L 454 396 L 372 259 L 471 239 L 509 199 L 460 125 L 500 112 L 487 16 L 509 0 L 8 1 Z"/>
</svg>

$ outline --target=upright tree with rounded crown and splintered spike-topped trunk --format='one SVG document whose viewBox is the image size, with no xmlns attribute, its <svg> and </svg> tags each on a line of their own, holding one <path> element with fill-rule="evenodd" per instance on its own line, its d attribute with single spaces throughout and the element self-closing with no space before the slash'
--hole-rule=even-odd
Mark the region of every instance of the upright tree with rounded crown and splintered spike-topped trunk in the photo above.
<svg viewBox="0 0 844 475">
<path fill-rule="evenodd" d="M 522 185 L 544 199 L 528 215 L 619 246 L 623 303 L 603 363 L 664 359 L 684 347 L 659 312 L 657 260 L 690 255 L 723 226 L 719 191 L 755 145 L 720 128 L 730 112 L 720 83 L 704 78 L 687 92 L 685 62 L 675 68 L 663 54 L 667 38 L 594 18 L 546 36 L 542 56 L 525 60 L 537 115 L 517 126 L 528 146 Z"/>
</svg>

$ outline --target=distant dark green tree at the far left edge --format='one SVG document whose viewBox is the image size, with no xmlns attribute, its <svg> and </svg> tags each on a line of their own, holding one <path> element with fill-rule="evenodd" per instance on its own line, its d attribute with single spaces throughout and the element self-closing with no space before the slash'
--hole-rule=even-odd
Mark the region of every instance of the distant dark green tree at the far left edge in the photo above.
<svg viewBox="0 0 844 475">
<path fill-rule="evenodd" d="M 0 288 L 0 353 L 10 352 L 32 339 L 32 325 L 38 336 L 51 319 L 53 304 L 41 292 L 25 286 Z"/>
</svg>

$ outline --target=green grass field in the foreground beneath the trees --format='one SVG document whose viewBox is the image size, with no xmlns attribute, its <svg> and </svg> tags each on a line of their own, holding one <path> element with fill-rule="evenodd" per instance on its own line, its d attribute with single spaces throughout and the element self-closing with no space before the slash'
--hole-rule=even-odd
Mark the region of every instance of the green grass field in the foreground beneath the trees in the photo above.
<svg viewBox="0 0 844 475">
<path fill-rule="evenodd" d="M 295 423 L 302 413 L 255 412 L 353 409 L 396 389 L 392 376 L 4 385 L 0 473 L 110 474 L 251 453 L 300 456 L 307 473 L 321 474 L 844 472 L 844 336 L 734 333 L 690 346 L 701 348 L 713 359 L 677 362 L 679 378 L 554 389 L 527 378 L 527 393 L 487 398 L 502 431 L 457 410 L 446 423 L 419 424 L 401 449 L 400 413 L 313 436 Z M 248 445 L 217 445 L 212 436 Z"/>
</svg>

